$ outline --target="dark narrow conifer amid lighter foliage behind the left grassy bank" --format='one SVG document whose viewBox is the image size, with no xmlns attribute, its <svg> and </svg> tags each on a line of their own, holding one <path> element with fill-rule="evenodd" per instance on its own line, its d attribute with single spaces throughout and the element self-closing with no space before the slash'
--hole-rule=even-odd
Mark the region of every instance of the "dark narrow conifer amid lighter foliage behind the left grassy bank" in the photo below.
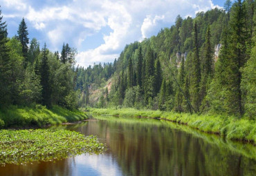
<svg viewBox="0 0 256 176">
<path fill-rule="evenodd" d="M 48 63 L 48 50 L 46 43 L 42 49 L 42 66 L 41 66 L 41 84 L 42 84 L 42 104 L 51 107 L 51 85 L 49 83 L 50 67 Z"/>
</svg>

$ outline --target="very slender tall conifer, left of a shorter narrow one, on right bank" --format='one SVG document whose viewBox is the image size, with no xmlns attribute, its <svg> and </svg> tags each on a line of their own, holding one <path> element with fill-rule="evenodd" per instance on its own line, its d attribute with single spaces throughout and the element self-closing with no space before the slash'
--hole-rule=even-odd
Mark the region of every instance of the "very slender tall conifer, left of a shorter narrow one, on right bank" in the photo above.
<svg viewBox="0 0 256 176">
<path fill-rule="evenodd" d="M 191 97 L 192 104 L 196 111 L 199 111 L 201 104 L 201 97 L 199 94 L 201 81 L 200 59 L 199 59 L 199 46 L 197 37 L 197 24 L 194 23 L 194 57 L 192 60 L 192 82 L 191 82 Z"/>
</svg>

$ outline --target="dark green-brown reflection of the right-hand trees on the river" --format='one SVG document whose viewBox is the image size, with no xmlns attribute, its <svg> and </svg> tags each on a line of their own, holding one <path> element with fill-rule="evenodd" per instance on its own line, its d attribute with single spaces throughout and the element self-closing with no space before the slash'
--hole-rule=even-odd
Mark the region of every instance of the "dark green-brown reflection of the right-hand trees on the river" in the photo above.
<svg viewBox="0 0 256 176">
<path fill-rule="evenodd" d="M 124 175 L 253 175 L 256 162 L 181 130 L 100 121 L 86 133 L 106 139 Z"/>
</svg>

